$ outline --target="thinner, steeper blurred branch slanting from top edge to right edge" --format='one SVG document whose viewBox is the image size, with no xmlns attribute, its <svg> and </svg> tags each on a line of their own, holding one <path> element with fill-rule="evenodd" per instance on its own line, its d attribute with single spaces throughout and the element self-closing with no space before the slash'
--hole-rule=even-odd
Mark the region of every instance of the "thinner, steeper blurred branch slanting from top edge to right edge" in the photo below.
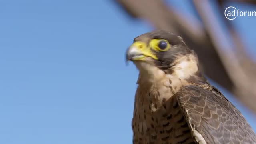
<svg viewBox="0 0 256 144">
<path fill-rule="evenodd" d="M 236 50 L 241 51 L 241 48 L 243 48 L 242 43 L 240 41 L 236 41 L 237 45 L 232 46 L 232 43 L 234 42 L 228 43 L 228 40 L 223 37 L 226 36 L 226 34 L 221 29 L 221 26 L 218 23 L 216 15 L 214 14 L 208 0 L 193 0 L 193 2 L 204 26 L 206 27 L 207 33 L 210 35 L 210 38 L 214 42 L 215 49 L 217 50 L 218 55 L 220 56 L 220 59 L 235 86 L 232 92 L 237 96 L 239 100 L 246 104 L 246 106 L 256 112 L 256 106 L 254 104 L 256 101 L 255 76 L 251 75 L 251 71 L 244 69 L 244 66 L 240 64 L 238 54 L 232 50 L 232 47 L 236 47 Z M 232 38 L 237 40 L 237 37 L 234 36 L 234 34 L 235 32 L 233 31 L 231 34 L 233 35 Z M 224 44 L 224 42 L 227 43 Z M 223 51 L 224 48 L 228 49 L 228 54 Z M 245 53 L 242 52 L 242 54 Z M 252 66 L 256 66 L 256 64 L 254 63 Z"/>
</svg>

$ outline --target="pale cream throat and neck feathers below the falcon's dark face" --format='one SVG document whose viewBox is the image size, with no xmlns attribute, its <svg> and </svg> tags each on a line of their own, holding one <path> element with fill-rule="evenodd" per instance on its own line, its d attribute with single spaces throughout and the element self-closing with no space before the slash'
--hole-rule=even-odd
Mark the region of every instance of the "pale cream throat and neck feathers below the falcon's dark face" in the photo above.
<svg viewBox="0 0 256 144">
<path fill-rule="evenodd" d="M 136 63 L 136 66 L 140 70 L 137 84 L 144 92 L 150 93 L 144 96 L 154 105 L 153 108 L 161 106 L 183 86 L 206 83 L 200 73 L 198 59 L 192 54 L 178 58 L 169 70 L 161 70 L 146 62 Z"/>
</svg>

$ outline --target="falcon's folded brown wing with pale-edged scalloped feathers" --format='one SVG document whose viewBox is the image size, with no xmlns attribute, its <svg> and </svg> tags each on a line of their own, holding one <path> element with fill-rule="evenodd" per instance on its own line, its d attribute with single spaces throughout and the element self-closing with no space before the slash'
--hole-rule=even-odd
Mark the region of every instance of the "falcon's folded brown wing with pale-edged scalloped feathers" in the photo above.
<svg viewBox="0 0 256 144">
<path fill-rule="evenodd" d="M 178 104 L 208 144 L 254 144 L 256 135 L 241 112 L 218 91 L 186 86 L 177 94 Z"/>
</svg>

